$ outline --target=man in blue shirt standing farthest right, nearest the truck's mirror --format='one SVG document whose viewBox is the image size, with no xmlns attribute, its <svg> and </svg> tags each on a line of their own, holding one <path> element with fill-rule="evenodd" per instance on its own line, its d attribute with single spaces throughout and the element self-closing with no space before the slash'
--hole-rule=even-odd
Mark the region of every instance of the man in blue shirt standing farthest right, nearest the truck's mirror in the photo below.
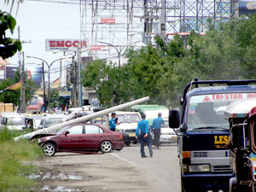
<svg viewBox="0 0 256 192">
<path fill-rule="evenodd" d="M 164 120 L 161 118 L 162 114 L 158 113 L 158 117 L 153 120 L 151 125 L 151 130 L 154 132 L 154 146 L 157 149 L 160 149 L 160 134 L 161 134 L 161 125 L 165 124 Z"/>
</svg>

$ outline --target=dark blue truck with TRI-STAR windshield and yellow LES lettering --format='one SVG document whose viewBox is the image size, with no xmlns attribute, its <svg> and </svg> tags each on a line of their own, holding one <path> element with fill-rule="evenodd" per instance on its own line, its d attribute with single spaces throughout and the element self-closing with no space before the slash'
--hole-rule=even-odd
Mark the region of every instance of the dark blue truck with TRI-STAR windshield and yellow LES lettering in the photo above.
<svg viewBox="0 0 256 192">
<path fill-rule="evenodd" d="M 224 111 L 232 102 L 256 97 L 256 80 L 195 81 L 181 96 L 181 110 L 170 110 L 169 126 L 178 137 L 182 191 L 228 191 L 233 177 L 230 124 Z"/>
</svg>

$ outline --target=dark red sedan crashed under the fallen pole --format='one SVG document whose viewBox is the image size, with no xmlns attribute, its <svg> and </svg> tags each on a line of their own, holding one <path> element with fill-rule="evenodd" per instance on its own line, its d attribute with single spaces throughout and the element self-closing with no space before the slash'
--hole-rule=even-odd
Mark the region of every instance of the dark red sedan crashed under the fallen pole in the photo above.
<svg viewBox="0 0 256 192">
<path fill-rule="evenodd" d="M 55 152 L 102 151 L 102 153 L 108 153 L 124 148 L 121 133 L 95 124 L 69 125 L 56 134 L 39 138 L 38 143 L 43 146 L 44 154 L 48 156 L 53 156 Z"/>
</svg>

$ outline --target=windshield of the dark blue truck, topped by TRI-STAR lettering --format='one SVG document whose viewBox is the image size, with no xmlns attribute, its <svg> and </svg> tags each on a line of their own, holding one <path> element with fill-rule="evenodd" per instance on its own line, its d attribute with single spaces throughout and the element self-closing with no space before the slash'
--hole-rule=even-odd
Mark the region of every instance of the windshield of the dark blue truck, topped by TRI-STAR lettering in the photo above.
<svg viewBox="0 0 256 192">
<path fill-rule="evenodd" d="M 226 93 L 189 98 L 187 125 L 189 130 L 229 129 L 224 110 L 231 102 L 248 99 L 252 93 Z"/>
</svg>

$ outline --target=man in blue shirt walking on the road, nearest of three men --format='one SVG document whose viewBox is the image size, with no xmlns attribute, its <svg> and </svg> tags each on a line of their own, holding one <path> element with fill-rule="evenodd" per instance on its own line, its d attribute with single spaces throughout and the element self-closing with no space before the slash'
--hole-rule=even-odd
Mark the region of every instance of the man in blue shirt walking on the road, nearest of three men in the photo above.
<svg viewBox="0 0 256 192">
<path fill-rule="evenodd" d="M 148 137 L 148 132 L 149 132 L 148 120 L 146 120 L 146 114 L 145 113 L 142 114 L 142 120 L 137 123 L 136 139 L 138 138 L 139 131 L 141 132 L 140 142 L 141 142 L 142 158 L 143 157 L 148 157 L 148 156 L 146 156 L 145 151 L 144 151 L 144 143 L 146 143 L 148 145 L 148 150 L 149 150 L 150 157 L 153 157 L 152 144 L 151 144 L 151 141 Z"/>
</svg>

